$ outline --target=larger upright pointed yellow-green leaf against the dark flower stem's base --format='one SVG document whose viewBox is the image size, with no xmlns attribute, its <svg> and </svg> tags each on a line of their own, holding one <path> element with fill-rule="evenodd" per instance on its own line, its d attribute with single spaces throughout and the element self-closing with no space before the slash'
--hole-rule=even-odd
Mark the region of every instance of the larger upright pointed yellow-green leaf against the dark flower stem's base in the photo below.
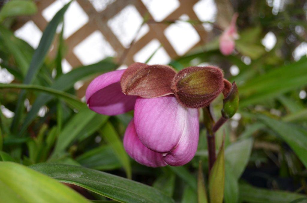
<svg viewBox="0 0 307 203">
<path fill-rule="evenodd" d="M 209 199 L 210 203 L 222 203 L 225 186 L 225 155 L 222 144 L 216 161 L 209 174 Z"/>
</svg>

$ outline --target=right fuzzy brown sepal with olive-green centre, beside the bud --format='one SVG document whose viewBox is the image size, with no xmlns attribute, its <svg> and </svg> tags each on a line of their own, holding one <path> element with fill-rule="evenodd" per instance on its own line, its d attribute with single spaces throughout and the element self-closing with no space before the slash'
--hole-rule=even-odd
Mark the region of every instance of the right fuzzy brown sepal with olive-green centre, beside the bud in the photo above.
<svg viewBox="0 0 307 203">
<path fill-rule="evenodd" d="M 208 106 L 223 89 L 223 71 L 214 66 L 188 67 L 179 71 L 172 82 L 177 101 L 189 108 Z"/>
</svg>

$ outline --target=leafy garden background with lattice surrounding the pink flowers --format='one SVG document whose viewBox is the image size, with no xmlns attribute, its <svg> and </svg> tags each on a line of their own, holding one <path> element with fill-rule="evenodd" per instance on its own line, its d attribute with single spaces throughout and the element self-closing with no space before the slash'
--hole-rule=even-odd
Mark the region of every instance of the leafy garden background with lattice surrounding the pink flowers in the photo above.
<svg viewBox="0 0 307 203">
<path fill-rule="evenodd" d="M 0 5 L 0 202 L 205 202 L 206 195 L 220 202 L 208 184 L 204 124 L 190 163 L 150 168 L 122 145 L 133 112 L 87 108 L 93 78 L 134 62 L 177 71 L 214 65 L 236 82 L 239 109 L 216 133 L 216 149 L 225 135 L 225 172 L 215 178 L 225 187 L 214 190 L 224 202 L 307 200 L 306 1 Z M 224 56 L 219 37 L 234 13 L 239 39 Z M 222 100 L 212 103 L 216 118 Z"/>
</svg>

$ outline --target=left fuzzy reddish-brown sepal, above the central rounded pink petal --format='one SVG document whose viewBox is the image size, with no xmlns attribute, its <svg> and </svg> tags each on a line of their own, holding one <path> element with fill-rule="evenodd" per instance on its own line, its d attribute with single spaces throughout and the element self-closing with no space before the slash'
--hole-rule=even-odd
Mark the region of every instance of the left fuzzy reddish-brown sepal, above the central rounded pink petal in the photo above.
<svg viewBox="0 0 307 203">
<path fill-rule="evenodd" d="M 133 63 L 122 75 L 122 92 L 143 98 L 156 98 L 173 94 L 171 83 L 176 75 L 173 68 L 165 65 Z"/>
</svg>

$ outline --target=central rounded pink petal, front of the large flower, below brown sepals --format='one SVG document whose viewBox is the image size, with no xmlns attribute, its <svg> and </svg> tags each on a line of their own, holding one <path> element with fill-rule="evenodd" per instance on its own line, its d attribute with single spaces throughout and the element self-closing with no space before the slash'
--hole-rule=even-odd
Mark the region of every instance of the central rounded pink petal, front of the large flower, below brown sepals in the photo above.
<svg viewBox="0 0 307 203">
<path fill-rule="evenodd" d="M 173 95 L 138 97 L 135 102 L 134 124 L 138 137 L 146 147 L 159 153 L 167 153 L 177 146 L 185 128 L 191 128 L 190 119 L 198 122 L 197 109 L 183 107 Z"/>
</svg>

